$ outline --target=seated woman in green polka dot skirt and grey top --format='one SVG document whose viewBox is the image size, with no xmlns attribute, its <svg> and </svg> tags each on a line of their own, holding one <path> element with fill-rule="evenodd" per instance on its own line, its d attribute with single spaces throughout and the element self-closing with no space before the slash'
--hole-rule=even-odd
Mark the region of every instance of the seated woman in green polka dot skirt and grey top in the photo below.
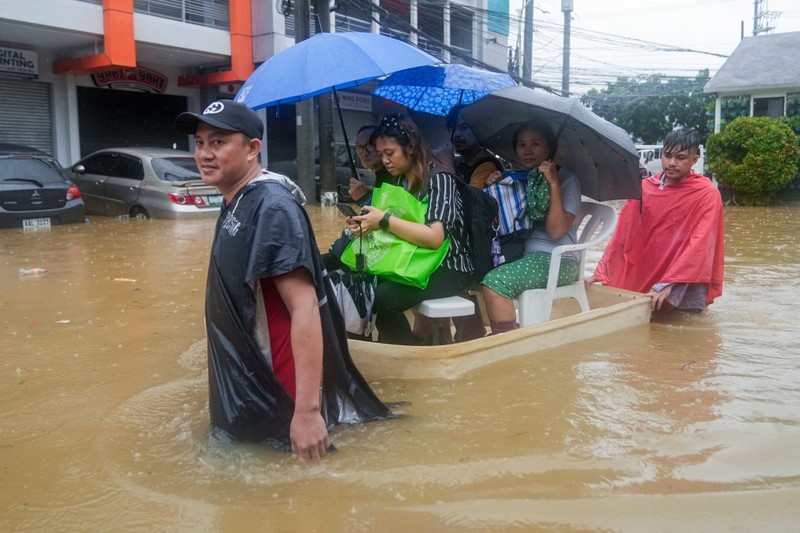
<svg viewBox="0 0 800 533">
<path fill-rule="evenodd" d="M 528 173 L 528 216 L 534 230 L 527 252 L 516 261 L 491 270 L 483 279 L 483 297 L 492 334 L 517 329 L 513 298 L 528 289 L 547 286 L 550 253 L 558 245 L 574 244 L 572 222 L 581 205 L 581 188 L 577 176 L 552 162 L 556 139 L 547 127 L 526 122 L 514 132 L 517 162 Z M 499 176 L 491 176 L 490 180 Z M 489 180 L 487 180 L 489 183 Z M 561 260 L 558 284 L 575 280 L 576 258 L 565 254 Z"/>
</svg>

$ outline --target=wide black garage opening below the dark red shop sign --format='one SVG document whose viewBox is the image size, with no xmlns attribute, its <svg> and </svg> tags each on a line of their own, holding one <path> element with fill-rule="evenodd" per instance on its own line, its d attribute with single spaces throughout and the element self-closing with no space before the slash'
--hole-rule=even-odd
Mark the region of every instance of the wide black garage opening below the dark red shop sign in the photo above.
<svg viewBox="0 0 800 533">
<path fill-rule="evenodd" d="M 175 117 L 186 111 L 186 97 L 78 87 L 81 157 L 117 146 L 189 149 L 175 131 Z"/>
</svg>

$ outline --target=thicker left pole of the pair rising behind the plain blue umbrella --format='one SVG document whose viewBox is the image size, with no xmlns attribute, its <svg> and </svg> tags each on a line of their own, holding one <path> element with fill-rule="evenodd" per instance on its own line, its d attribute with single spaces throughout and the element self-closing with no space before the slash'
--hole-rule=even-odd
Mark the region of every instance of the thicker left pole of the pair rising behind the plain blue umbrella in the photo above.
<svg viewBox="0 0 800 533">
<path fill-rule="evenodd" d="M 309 0 L 297 0 L 295 8 L 295 42 L 299 43 L 311 36 L 309 26 L 310 6 Z M 295 120 L 297 132 L 297 185 L 310 202 L 316 202 L 316 185 L 314 184 L 314 144 L 312 142 L 312 120 L 314 101 L 310 98 L 300 100 L 295 104 Z"/>
</svg>

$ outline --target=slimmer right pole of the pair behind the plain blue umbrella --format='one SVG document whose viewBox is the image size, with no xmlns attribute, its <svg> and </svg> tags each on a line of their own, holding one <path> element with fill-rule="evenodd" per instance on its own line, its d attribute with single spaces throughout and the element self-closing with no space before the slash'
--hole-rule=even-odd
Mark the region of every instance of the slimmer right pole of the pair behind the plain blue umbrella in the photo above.
<svg viewBox="0 0 800 533">
<path fill-rule="evenodd" d="M 331 31 L 331 12 L 328 0 L 314 0 L 314 13 L 319 21 L 319 30 Z M 317 124 L 319 125 L 319 189 L 322 205 L 336 202 L 336 153 L 333 148 L 333 103 L 332 94 L 314 97 L 317 102 Z"/>
</svg>

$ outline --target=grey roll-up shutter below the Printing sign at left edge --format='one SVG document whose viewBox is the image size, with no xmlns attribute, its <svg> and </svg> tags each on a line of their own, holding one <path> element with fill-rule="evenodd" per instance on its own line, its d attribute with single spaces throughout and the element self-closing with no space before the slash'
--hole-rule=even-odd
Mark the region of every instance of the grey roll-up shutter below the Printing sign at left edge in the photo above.
<svg viewBox="0 0 800 533">
<path fill-rule="evenodd" d="M 0 117 L 0 142 L 53 153 L 49 83 L 0 80 Z"/>
</svg>

